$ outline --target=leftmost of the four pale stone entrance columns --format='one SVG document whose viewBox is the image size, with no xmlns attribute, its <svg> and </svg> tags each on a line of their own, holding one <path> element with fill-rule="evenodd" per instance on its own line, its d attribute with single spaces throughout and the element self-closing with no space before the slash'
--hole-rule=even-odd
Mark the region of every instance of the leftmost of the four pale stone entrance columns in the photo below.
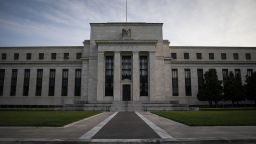
<svg viewBox="0 0 256 144">
<path fill-rule="evenodd" d="M 103 95 L 104 95 L 104 52 L 98 52 L 98 77 L 97 77 L 97 101 L 103 101 Z"/>
</svg>

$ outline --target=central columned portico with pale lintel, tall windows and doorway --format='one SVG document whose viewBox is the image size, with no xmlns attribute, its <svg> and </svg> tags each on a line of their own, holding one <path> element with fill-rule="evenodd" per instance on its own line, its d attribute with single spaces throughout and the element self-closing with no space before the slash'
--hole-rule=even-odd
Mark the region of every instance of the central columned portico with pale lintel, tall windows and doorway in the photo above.
<svg viewBox="0 0 256 144">
<path fill-rule="evenodd" d="M 156 43 L 156 40 L 96 41 L 97 101 L 149 101 L 154 93 L 155 76 L 151 68 L 155 65 L 153 57 Z M 109 84 L 106 82 L 109 74 L 106 66 L 111 67 L 111 64 L 106 62 L 107 57 L 113 59 L 113 95 L 108 95 L 106 90 L 106 85 Z"/>
</svg>

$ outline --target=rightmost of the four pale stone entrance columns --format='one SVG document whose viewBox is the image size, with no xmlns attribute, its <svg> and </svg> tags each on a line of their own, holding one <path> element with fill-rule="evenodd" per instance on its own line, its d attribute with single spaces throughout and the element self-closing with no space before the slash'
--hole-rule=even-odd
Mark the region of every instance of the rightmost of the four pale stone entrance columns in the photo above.
<svg viewBox="0 0 256 144">
<path fill-rule="evenodd" d="M 149 99 L 155 98 L 155 52 L 149 52 Z"/>
</svg>

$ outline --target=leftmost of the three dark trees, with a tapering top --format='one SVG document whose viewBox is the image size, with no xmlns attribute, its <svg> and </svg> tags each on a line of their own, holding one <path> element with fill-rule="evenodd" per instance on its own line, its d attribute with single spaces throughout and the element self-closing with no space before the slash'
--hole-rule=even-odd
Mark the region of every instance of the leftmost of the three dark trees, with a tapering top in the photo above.
<svg viewBox="0 0 256 144">
<path fill-rule="evenodd" d="M 221 81 L 218 80 L 216 70 L 210 69 L 204 74 L 204 80 L 201 88 L 198 91 L 198 99 L 201 101 L 208 101 L 211 106 L 214 102 L 218 105 L 218 102 L 222 100 L 223 88 Z"/>
</svg>

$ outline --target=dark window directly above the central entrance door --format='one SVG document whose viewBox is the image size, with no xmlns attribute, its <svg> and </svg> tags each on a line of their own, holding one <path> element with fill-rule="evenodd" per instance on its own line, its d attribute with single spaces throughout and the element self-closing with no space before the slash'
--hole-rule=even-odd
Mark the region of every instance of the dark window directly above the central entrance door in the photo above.
<svg viewBox="0 0 256 144">
<path fill-rule="evenodd" d="M 122 56 L 122 80 L 132 78 L 132 59 L 131 56 Z"/>
</svg>

